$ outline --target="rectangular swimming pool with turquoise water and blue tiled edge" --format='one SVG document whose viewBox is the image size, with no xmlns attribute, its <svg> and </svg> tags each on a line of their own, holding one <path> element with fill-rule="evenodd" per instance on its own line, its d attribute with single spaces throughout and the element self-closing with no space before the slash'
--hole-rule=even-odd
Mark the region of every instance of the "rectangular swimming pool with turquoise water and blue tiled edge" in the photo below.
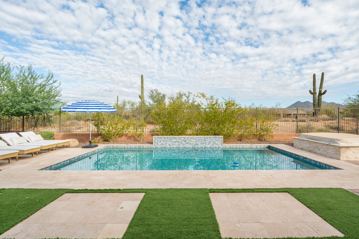
<svg viewBox="0 0 359 239">
<path fill-rule="evenodd" d="M 237 162 L 236 165 L 234 162 Z M 237 166 L 238 165 L 238 166 Z M 83 154 L 42 170 L 300 170 L 338 169 L 271 146 L 230 148 L 115 147 Z"/>
</svg>

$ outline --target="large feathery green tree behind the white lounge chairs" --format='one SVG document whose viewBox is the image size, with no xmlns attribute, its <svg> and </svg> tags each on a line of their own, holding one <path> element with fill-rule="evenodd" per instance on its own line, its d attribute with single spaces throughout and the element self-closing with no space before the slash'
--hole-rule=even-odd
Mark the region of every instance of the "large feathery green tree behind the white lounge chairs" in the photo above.
<svg viewBox="0 0 359 239">
<path fill-rule="evenodd" d="M 0 114 L 9 116 L 51 113 L 65 102 L 60 83 L 51 71 L 38 75 L 31 65 L 12 67 L 0 60 Z"/>
</svg>

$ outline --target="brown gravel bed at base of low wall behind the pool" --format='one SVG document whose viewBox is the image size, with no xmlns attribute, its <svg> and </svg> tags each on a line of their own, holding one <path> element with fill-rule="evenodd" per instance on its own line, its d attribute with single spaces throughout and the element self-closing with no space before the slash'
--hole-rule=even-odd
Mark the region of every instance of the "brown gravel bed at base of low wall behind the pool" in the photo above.
<svg viewBox="0 0 359 239">
<path fill-rule="evenodd" d="M 81 148 L 83 145 L 88 144 L 86 143 L 79 143 L 78 146 L 74 148 Z M 101 142 L 97 144 L 153 144 L 153 141 L 135 141 L 135 140 L 118 140 L 114 142 Z M 237 140 L 230 140 L 224 141 L 223 144 L 286 144 L 293 147 L 293 141 L 237 141 Z"/>
</svg>

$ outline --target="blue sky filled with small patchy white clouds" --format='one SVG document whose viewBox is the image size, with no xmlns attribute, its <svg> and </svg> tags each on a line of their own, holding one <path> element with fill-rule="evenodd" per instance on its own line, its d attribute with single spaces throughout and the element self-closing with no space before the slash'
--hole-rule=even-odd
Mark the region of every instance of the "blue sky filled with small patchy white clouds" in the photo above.
<svg viewBox="0 0 359 239">
<path fill-rule="evenodd" d="M 0 0 L 0 58 L 50 70 L 69 104 L 149 90 L 287 107 L 359 90 L 359 0 Z"/>
</svg>

